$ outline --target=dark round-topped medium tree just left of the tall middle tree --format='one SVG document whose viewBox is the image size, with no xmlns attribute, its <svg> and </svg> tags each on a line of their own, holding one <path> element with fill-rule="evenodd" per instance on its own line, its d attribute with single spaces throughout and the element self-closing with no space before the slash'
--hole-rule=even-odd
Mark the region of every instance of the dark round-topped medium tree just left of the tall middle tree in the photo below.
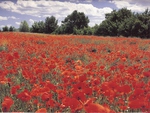
<svg viewBox="0 0 150 113">
<path fill-rule="evenodd" d="M 45 33 L 52 33 L 54 32 L 58 25 L 58 20 L 54 16 L 46 17 L 45 19 Z"/>
</svg>

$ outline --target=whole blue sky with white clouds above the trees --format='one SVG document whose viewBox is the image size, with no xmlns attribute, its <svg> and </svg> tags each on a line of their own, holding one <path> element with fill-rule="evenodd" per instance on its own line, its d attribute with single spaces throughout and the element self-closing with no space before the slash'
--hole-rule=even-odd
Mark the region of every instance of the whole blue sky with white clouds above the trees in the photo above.
<svg viewBox="0 0 150 113">
<path fill-rule="evenodd" d="M 29 26 L 55 16 L 58 25 L 74 10 L 88 16 L 89 26 L 100 24 L 106 13 L 127 8 L 132 12 L 150 9 L 150 0 L 0 0 L 0 28 L 5 25 L 19 28 L 26 20 Z"/>
</svg>

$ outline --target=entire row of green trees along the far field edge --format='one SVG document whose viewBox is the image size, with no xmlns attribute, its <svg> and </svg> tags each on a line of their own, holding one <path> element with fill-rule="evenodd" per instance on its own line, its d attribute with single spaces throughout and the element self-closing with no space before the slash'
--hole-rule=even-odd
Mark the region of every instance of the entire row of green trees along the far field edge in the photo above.
<svg viewBox="0 0 150 113">
<path fill-rule="evenodd" d="M 20 32 L 46 34 L 74 34 L 97 36 L 125 36 L 150 38 L 150 11 L 135 13 L 127 8 L 113 10 L 105 14 L 105 20 L 94 27 L 90 27 L 89 18 L 77 10 L 68 15 L 60 26 L 54 17 L 46 17 L 45 21 L 34 22 L 29 27 L 26 21 L 21 22 Z M 14 27 L 3 27 L 3 31 L 15 31 Z"/>
</svg>

